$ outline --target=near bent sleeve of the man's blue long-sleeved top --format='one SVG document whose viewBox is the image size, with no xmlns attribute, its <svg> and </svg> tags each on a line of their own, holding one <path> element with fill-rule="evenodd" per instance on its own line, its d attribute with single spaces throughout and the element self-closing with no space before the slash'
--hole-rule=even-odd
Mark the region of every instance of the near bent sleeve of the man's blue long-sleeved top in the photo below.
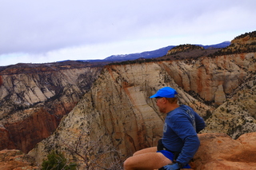
<svg viewBox="0 0 256 170">
<path fill-rule="evenodd" d="M 184 144 L 182 152 L 179 154 L 176 161 L 185 166 L 198 151 L 200 145 L 198 134 L 195 132 L 189 118 L 184 114 L 177 114 L 176 117 L 173 117 L 171 126 L 178 137 L 182 139 Z"/>
</svg>

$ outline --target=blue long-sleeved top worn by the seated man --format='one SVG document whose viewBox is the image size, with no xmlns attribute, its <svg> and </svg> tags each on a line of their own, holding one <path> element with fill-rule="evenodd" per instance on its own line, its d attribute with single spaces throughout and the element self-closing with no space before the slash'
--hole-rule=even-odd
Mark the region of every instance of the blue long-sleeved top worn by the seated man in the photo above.
<svg viewBox="0 0 256 170">
<path fill-rule="evenodd" d="M 178 161 L 186 165 L 198 151 L 198 132 L 205 128 L 202 117 L 187 105 L 167 113 L 163 128 L 162 144 L 172 152 L 180 152 Z"/>
</svg>

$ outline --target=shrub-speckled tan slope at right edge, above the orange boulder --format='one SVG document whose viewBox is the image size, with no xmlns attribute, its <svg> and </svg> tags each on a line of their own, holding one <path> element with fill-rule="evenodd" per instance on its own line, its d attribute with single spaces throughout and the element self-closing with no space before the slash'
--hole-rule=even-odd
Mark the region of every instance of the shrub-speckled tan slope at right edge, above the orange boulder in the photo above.
<svg viewBox="0 0 256 170">
<path fill-rule="evenodd" d="M 206 120 L 202 132 L 225 132 L 234 139 L 256 132 L 256 76 L 245 80 Z"/>
</svg>

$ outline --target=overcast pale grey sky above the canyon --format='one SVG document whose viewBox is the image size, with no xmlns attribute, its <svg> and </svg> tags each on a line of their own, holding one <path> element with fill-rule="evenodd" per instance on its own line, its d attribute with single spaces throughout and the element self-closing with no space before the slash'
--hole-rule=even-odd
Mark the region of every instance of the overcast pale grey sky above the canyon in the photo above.
<svg viewBox="0 0 256 170">
<path fill-rule="evenodd" d="M 1 0 L 0 66 L 213 45 L 256 30 L 255 0 Z"/>
</svg>

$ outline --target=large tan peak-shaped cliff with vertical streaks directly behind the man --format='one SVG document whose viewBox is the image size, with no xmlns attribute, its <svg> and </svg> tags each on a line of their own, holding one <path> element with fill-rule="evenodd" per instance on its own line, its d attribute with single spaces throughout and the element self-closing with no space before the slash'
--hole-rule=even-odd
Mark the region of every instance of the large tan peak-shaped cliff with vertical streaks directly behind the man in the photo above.
<svg viewBox="0 0 256 170">
<path fill-rule="evenodd" d="M 82 101 L 65 117 L 56 131 L 40 142 L 30 155 L 39 163 L 55 147 L 74 145 L 76 136 L 89 132 L 88 140 L 100 136 L 103 144 L 118 146 L 123 156 L 157 144 L 163 115 L 149 99 L 162 86 L 178 90 L 180 101 L 194 106 L 201 115 L 211 107 L 194 99 L 162 68 L 167 63 L 108 65 Z M 110 137 L 110 139 L 109 139 Z"/>
</svg>

